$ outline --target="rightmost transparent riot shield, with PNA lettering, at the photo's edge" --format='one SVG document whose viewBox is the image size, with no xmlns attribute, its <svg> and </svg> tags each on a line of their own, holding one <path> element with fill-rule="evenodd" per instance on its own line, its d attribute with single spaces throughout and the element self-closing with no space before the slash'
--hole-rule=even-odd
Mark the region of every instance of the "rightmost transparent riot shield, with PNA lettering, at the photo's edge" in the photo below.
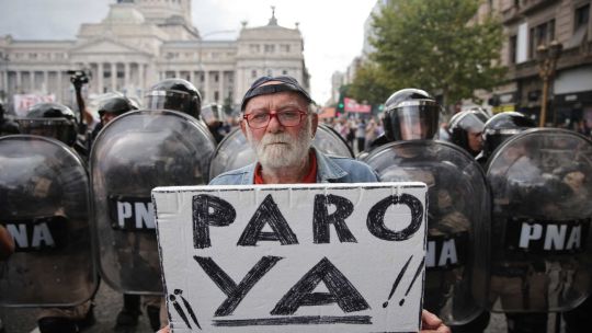
<svg viewBox="0 0 592 333">
<path fill-rule="evenodd" d="M 503 312 L 566 311 L 589 295 L 592 271 L 592 141 L 534 128 L 492 153 L 489 307 Z"/>
</svg>

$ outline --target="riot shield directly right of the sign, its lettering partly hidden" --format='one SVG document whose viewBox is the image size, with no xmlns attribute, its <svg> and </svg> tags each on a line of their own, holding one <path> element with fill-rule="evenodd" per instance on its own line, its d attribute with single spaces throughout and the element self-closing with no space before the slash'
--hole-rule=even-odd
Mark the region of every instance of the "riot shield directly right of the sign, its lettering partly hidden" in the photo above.
<svg viewBox="0 0 592 333">
<path fill-rule="evenodd" d="M 486 302 L 489 260 L 490 196 L 481 166 L 434 140 L 390 142 L 364 159 L 383 182 L 428 184 L 423 307 L 447 324 L 476 318 Z"/>
</svg>

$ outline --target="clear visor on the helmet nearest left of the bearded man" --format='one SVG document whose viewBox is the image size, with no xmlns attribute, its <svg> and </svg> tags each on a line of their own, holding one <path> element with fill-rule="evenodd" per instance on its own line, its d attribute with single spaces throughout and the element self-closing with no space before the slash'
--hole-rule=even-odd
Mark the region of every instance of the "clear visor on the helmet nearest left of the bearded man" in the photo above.
<svg viewBox="0 0 592 333">
<path fill-rule="evenodd" d="M 153 90 L 146 94 L 145 104 L 148 110 L 172 110 L 194 117 L 200 114 L 196 97 L 177 90 Z"/>
</svg>

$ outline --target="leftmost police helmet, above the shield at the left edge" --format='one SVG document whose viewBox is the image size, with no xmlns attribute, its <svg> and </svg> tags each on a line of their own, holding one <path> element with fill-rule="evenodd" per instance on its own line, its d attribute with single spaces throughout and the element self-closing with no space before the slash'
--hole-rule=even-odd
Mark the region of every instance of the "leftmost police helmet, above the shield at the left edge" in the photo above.
<svg viewBox="0 0 592 333">
<path fill-rule="evenodd" d="M 55 138 L 72 146 L 78 124 L 75 113 L 59 103 L 39 103 L 29 108 L 24 118 L 18 119 L 21 133 Z"/>
</svg>

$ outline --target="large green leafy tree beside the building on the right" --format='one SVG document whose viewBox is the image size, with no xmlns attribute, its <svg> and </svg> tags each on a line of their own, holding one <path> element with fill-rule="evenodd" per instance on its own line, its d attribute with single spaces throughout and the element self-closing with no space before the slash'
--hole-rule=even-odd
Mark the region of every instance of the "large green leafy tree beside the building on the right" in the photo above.
<svg viewBox="0 0 592 333">
<path fill-rule="evenodd" d="M 478 7 L 478 0 L 388 2 L 373 23 L 376 81 L 391 92 L 413 87 L 441 94 L 443 105 L 499 84 L 502 25 L 491 15 L 476 20 Z"/>
</svg>

